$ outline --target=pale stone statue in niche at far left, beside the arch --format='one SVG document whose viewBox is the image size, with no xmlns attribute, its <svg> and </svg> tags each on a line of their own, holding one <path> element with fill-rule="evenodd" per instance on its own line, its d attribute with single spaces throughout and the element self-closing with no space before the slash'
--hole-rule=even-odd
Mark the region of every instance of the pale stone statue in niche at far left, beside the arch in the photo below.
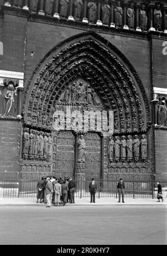
<svg viewBox="0 0 167 256">
<path fill-rule="evenodd" d="M 4 111 L 4 116 L 12 116 L 14 111 L 16 96 L 17 96 L 17 89 L 14 88 L 13 82 L 9 82 L 8 91 L 4 96 L 7 101 L 5 111 Z"/>
</svg>

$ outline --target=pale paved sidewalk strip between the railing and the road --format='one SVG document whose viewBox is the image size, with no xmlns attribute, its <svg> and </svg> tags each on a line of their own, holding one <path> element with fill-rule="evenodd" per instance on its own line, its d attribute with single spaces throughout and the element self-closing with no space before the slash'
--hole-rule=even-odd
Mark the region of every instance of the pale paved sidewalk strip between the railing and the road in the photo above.
<svg viewBox="0 0 167 256">
<path fill-rule="evenodd" d="M 76 198 L 75 203 L 67 203 L 66 206 L 111 206 L 111 205 L 164 205 L 167 206 L 167 198 L 164 202 L 157 202 L 151 198 L 125 198 L 125 203 L 118 203 L 117 198 L 96 198 L 96 203 L 90 203 L 90 198 Z M 0 198 L 1 206 L 43 206 L 43 203 L 36 203 L 36 198 Z"/>
</svg>

